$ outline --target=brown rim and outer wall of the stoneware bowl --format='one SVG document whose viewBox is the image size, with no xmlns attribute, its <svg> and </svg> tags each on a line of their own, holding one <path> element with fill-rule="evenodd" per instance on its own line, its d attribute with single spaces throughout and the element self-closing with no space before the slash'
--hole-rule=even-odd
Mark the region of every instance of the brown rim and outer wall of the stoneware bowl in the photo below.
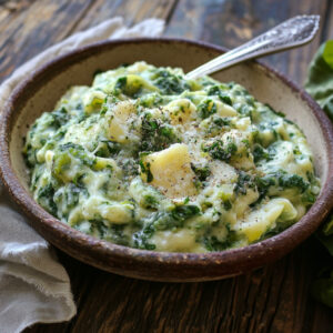
<svg viewBox="0 0 333 333">
<path fill-rule="evenodd" d="M 118 274 L 157 281 L 205 281 L 244 273 L 254 268 L 262 266 L 270 261 L 278 260 L 310 236 L 333 206 L 333 154 L 330 154 L 329 176 L 321 194 L 307 213 L 297 223 L 290 226 L 284 232 L 262 242 L 223 252 L 169 253 L 115 245 L 83 234 L 60 222 L 31 199 L 29 193 L 20 184 L 11 168 L 9 153 L 9 134 L 16 118 L 14 112 L 11 112 L 11 110 L 14 110 L 14 107 L 20 102 L 24 102 L 29 90 L 26 88 L 29 88 L 29 85 L 32 84 L 32 90 L 38 90 L 40 84 L 47 79 L 43 77 L 46 70 L 49 75 L 51 75 L 53 71 L 61 69 L 62 64 L 70 64 L 80 59 L 84 59 L 87 53 L 91 54 L 98 52 L 100 49 L 108 49 L 118 44 L 141 42 L 181 42 L 203 47 L 215 52 L 225 52 L 223 48 L 185 39 L 141 38 L 103 41 L 58 57 L 32 72 L 14 89 L 9 101 L 4 105 L 3 113 L 0 115 L 2 123 L 0 129 L 0 176 L 14 202 L 30 219 L 32 219 L 29 220 L 29 224 L 52 244 L 85 263 Z M 285 75 L 261 62 L 255 61 L 255 63 L 263 68 L 266 74 L 273 74 L 281 79 L 310 105 L 323 131 L 327 150 L 333 152 L 332 123 L 316 102 Z M 29 90 L 29 94 L 30 93 L 31 90 Z M 34 223 L 32 221 L 34 221 Z M 144 270 L 142 271 L 143 268 Z M 163 272 L 167 272 L 168 276 L 165 279 L 163 278 Z"/>
</svg>

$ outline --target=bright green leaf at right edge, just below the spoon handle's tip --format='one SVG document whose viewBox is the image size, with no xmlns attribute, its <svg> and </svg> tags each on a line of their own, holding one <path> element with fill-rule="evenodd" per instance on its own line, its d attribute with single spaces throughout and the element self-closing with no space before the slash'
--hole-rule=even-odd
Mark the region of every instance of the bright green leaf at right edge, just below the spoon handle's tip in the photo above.
<svg viewBox="0 0 333 333">
<path fill-rule="evenodd" d="M 305 90 L 333 121 L 333 40 L 322 44 L 312 60 Z"/>
</svg>

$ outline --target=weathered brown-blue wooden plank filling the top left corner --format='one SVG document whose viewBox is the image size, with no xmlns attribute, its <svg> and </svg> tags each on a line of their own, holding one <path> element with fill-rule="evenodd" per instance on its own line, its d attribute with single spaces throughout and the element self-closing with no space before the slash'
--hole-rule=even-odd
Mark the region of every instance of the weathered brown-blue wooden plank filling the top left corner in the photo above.
<svg viewBox="0 0 333 333">
<path fill-rule="evenodd" d="M 27 2 L 27 1 L 26 1 Z M 92 1 L 29 1 L 10 12 L 1 7 L 0 81 L 31 57 L 62 40 Z M 6 16 L 7 13 L 7 16 Z"/>
</svg>

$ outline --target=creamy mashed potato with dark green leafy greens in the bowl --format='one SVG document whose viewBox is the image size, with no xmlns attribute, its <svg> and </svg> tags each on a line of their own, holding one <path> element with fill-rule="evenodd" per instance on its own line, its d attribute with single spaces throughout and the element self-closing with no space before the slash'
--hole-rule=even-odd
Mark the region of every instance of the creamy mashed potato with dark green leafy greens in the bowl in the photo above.
<svg viewBox="0 0 333 333">
<path fill-rule="evenodd" d="M 320 182 L 296 124 L 238 83 L 145 62 L 72 87 L 27 134 L 36 201 L 127 246 L 208 252 L 282 232 Z"/>
</svg>

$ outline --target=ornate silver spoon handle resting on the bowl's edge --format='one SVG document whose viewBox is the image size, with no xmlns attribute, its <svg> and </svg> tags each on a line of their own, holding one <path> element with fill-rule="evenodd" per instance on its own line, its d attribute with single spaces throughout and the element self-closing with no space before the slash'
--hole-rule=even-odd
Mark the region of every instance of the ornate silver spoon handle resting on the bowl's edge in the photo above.
<svg viewBox="0 0 333 333">
<path fill-rule="evenodd" d="M 299 16 L 186 73 L 195 79 L 260 56 L 309 43 L 319 30 L 320 16 Z"/>
</svg>

